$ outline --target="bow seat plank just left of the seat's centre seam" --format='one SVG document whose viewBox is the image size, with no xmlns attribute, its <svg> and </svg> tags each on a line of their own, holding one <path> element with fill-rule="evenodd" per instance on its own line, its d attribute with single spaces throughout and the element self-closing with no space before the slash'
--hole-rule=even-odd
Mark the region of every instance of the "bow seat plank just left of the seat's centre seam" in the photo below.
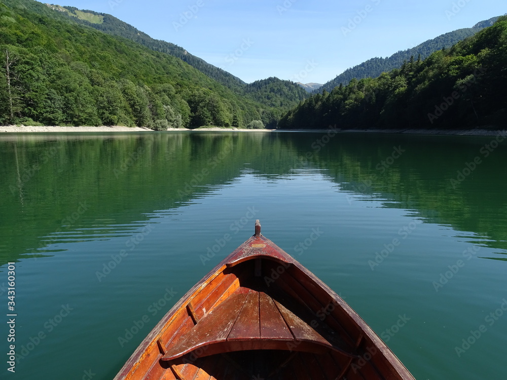
<svg viewBox="0 0 507 380">
<path fill-rule="evenodd" d="M 250 290 L 227 341 L 259 339 L 259 292 Z"/>
</svg>

